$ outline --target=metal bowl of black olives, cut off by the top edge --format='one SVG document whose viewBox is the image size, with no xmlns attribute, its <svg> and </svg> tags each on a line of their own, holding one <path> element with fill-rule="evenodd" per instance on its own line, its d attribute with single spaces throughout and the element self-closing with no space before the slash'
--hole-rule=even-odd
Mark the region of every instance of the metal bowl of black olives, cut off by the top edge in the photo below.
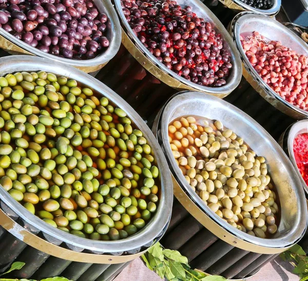
<svg viewBox="0 0 308 281">
<path fill-rule="evenodd" d="M 279 12 L 281 7 L 281 0 L 272 0 L 273 6 L 271 9 L 268 10 L 254 8 L 252 6 L 243 3 L 241 0 L 219 0 L 219 1 L 230 9 L 256 12 L 264 15 L 275 15 Z"/>
</svg>

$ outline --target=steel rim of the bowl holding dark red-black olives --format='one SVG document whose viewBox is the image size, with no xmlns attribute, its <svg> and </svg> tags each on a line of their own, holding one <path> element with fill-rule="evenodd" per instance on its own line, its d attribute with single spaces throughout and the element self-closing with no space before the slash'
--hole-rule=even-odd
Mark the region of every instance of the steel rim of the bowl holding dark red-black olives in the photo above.
<svg viewBox="0 0 308 281">
<path fill-rule="evenodd" d="M 223 40 L 227 43 L 229 48 L 232 50 L 231 55 L 233 57 L 233 60 L 231 61 L 233 64 L 232 72 L 230 76 L 233 76 L 233 78 L 230 79 L 230 77 L 227 79 L 226 85 L 222 87 L 206 87 L 201 86 L 199 84 L 193 83 L 191 81 L 186 80 L 185 78 L 179 76 L 174 71 L 168 69 L 163 63 L 159 62 L 153 54 L 151 54 L 148 49 L 141 43 L 141 41 L 138 39 L 136 34 L 132 31 L 132 29 L 129 26 L 129 23 L 126 21 L 125 15 L 123 13 L 122 7 L 121 7 L 121 0 L 114 0 L 115 9 L 117 10 L 122 25 L 125 27 L 125 31 L 127 31 L 127 35 L 130 39 L 134 42 L 136 47 L 146 55 L 146 57 L 155 65 L 157 65 L 160 69 L 167 72 L 171 77 L 179 80 L 185 85 L 188 85 L 191 88 L 194 88 L 198 91 L 205 91 L 208 93 L 213 94 L 220 94 L 220 93 L 228 93 L 230 91 L 233 91 L 240 83 L 241 81 L 241 74 L 242 74 L 242 66 L 241 66 L 241 60 L 237 51 L 236 46 L 234 45 L 232 38 L 230 37 L 229 33 L 225 29 L 225 27 L 222 25 L 222 23 L 218 20 L 218 18 L 212 13 L 201 1 L 199 0 L 184 0 L 185 5 L 181 6 L 187 6 L 189 3 L 194 3 L 194 5 L 199 6 L 200 10 L 202 9 L 210 18 L 213 20 L 215 26 L 214 28 L 218 30 L 218 32 L 222 35 Z M 280 0 L 278 0 L 280 1 Z M 195 11 L 196 12 L 196 11 Z M 197 12 L 198 15 L 198 12 Z M 200 15 L 199 15 L 200 16 Z M 202 17 L 202 16 L 201 16 Z"/>
</svg>

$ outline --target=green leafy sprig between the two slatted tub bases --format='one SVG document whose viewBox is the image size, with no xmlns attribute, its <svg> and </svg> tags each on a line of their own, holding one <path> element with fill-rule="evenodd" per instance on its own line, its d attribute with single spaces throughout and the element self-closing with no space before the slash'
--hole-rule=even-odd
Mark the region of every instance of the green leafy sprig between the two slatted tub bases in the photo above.
<svg viewBox="0 0 308 281">
<path fill-rule="evenodd" d="M 168 281 L 223 281 L 222 276 L 209 276 L 197 269 L 192 270 L 187 257 L 179 251 L 165 249 L 159 242 L 143 254 L 142 259 L 147 268 L 155 271 L 162 279 Z"/>
</svg>

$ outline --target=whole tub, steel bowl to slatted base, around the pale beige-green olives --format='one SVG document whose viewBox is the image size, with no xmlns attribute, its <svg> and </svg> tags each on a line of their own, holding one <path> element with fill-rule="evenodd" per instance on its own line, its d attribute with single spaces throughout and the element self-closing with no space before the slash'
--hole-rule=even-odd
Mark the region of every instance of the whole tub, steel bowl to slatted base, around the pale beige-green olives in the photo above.
<svg viewBox="0 0 308 281">
<path fill-rule="evenodd" d="M 257 155 L 265 157 L 281 205 L 280 224 L 272 238 L 254 237 L 230 226 L 192 191 L 178 168 L 168 140 L 168 124 L 181 116 L 220 120 L 242 137 Z M 278 143 L 243 111 L 213 96 L 184 91 L 165 104 L 152 130 L 167 157 L 178 201 L 162 243 L 166 248 L 179 249 L 192 267 L 226 278 L 244 278 L 304 235 L 307 208 L 295 168 Z M 176 211 L 176 208 L 183 211 Z"/>
</svg>

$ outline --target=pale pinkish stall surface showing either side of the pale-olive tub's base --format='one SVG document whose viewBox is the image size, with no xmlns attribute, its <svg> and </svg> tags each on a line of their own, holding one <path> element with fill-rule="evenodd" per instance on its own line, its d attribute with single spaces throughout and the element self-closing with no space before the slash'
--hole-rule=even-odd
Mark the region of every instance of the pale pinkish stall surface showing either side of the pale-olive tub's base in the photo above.
<svg viewBox="0 0 308 281">
<path fill-rule="evenodd" d="M 277 257 L 265 265 L 254 277 L 247 281 L 298 281 L 299 277 L 293 274 L 293 266 Z M 160 281 L 155 272 L 150 271 L 140 258 L 135 259 L 126 267 L 114 281 Z"/>
</svg>

